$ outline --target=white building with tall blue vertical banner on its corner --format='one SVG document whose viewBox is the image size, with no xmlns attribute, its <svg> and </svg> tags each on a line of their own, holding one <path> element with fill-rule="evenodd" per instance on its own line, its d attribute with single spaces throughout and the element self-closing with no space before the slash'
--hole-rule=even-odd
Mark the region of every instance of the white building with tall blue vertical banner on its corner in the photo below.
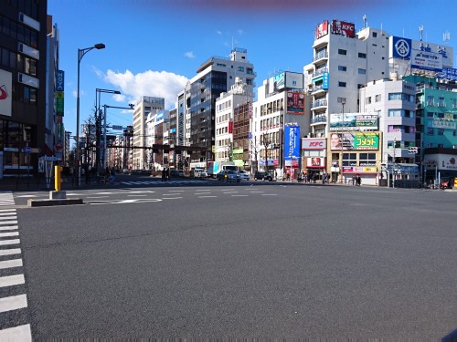
<svg viewBox="0 0 457 342">
<path fill-rule="evenodd" d="M 300 138 L 310 130 L 306 97 L 302 73 L 285 71 L 263 81 L 250 120 L 251 172 L 282 178 L 300 169 Z"/>
</svg>

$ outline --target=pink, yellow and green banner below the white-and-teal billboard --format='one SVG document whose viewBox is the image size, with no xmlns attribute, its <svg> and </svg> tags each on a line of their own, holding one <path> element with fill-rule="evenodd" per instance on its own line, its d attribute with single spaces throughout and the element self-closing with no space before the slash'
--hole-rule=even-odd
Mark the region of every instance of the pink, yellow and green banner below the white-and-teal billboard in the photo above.
<svg viewBox="0 0 457 342">
<path fill-rule="evenodd" d="M 330 150 L 379 150 L 379 132 L 332 133 Z"/>
</svg>

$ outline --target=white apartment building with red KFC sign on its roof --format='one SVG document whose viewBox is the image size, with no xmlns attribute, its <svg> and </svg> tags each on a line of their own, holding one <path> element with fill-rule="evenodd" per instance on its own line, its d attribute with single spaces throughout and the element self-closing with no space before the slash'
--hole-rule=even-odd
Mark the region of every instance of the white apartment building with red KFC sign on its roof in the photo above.
<svg viewBox="0 0 457 342">
<path fill-rule="evenodd" d="M 356 33 L 352 23 L 324 21 L 316 28 L 313 63 L 303 67 L 311 95 L 310 136 L 324 138 L 329 114 L 356 112 L 358 89 L 388 78 L 388 33 L 364 27 Z"/>
</svg>

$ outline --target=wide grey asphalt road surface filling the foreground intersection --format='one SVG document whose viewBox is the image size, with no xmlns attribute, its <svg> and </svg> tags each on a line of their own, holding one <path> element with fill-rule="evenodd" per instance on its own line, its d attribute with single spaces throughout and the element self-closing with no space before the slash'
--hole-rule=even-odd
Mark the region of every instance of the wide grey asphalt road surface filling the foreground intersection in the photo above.
<svg viewBox="0 0 457 342">
<path fill-rule="evenodd" d="M 86 204 L 17 209 L 28 306 L 15 317 L 34 338 L 457 328 L 457 192 L 208 181 L 74 193 Z"/>
</svg>

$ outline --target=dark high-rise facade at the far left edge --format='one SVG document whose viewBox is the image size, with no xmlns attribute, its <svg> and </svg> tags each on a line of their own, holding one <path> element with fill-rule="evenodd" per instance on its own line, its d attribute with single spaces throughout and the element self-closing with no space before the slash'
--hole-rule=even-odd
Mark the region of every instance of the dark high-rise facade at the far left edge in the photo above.
<svg viewBox="0 0 457 342">
<path fill-rule="evenodd" d="M 49 152 L 47 8 L 46 0 L 0 2 L 0 178 L 35 174 Z"/>
</svg>

